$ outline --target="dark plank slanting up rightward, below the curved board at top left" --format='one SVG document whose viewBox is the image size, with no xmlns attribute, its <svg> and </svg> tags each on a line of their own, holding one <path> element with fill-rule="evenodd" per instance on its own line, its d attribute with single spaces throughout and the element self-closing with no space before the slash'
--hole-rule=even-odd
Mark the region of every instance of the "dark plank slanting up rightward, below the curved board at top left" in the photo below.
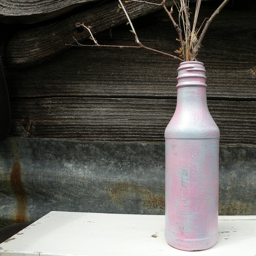
<svg viewBox="0 0 256 256">
<path fill-rule="evenodd" d="M 158 0 L 153 0 L 157 2 Z M 142 5 L 134 3 L 127 5 L 131 19 L 159 10 L 155 5 Z M 79 12 L 68 18 L 59 18 L 49 24 L 17 30 L 7 40 L 5 56 L 6 62 L 11 66 L 25 65 L 42 60 L 62 49 L 66 44 L 73 44 L 77 40 L 90 37 L 89 32 L 75 27 L 77 22 L 84 22 L 91 26 L 93 33 L 114 27 L 127 21 L 124 12 L 117 12 L 118 2 L 111 1 L 84 12 Z M 17 45 L 19 46 L 17 48 Z"/>
</svg>

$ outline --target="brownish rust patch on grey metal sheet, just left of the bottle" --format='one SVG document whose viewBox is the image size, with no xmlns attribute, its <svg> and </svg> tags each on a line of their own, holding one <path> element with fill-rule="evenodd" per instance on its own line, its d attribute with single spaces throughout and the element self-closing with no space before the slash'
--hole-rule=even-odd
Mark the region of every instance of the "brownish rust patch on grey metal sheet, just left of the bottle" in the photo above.
<svg viewBox="0 0 256 256">
<path fill-rule="evenodd" d="M 123 209 L 123 204 L 127 197 L 134 198 L 134 200 L 141 201 L 142 208 L 151 211 L 164 212 L 165 209 L 165 195 L 155 194 L 149 189 L 142 188 L 138 184 L 125 183 L 125 182 L 109 182 L 106 192 L 110 199 L 117 204 L 120 209 Z"/>
</svg>

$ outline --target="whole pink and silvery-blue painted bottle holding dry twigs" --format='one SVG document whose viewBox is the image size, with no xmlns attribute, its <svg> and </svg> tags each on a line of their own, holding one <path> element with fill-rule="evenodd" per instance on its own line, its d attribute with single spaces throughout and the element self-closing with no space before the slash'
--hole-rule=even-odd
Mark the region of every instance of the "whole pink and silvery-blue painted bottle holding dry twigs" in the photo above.
<svg viewBox="0 0 256 256">
<path fill-rule="evenodd" d="M 177 80 L 165 130 L 165 237 L 177 249 L 205 250 L 218 239 L 219 128 L 207 108 L 203 63 L 182 62 Z"/>
</svg>

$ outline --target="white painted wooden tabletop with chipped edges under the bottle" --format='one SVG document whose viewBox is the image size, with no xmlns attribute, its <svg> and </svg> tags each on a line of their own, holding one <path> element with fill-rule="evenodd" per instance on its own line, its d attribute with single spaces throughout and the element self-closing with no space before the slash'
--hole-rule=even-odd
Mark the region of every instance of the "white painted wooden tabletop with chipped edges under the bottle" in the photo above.
<svg viewBox="0 0 256 256">
<path fill-rule="evenodd" d="M 0 244 L 0 256 L 256 256 L 256 216 L 219 216 L 218 243 L 172 248 L 164 216 L 52 211 Z"/>
</svg>

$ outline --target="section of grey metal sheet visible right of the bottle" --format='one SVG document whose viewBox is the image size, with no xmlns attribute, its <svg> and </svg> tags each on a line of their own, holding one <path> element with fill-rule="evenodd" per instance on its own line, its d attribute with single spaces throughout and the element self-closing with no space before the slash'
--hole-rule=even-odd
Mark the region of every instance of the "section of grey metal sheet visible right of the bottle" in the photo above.
<svg viewBox="0 0 256 256">
<path fill-rule="evenodd" d="M 256 214 L 256 146 L 220 147 L 219 215 Z"/>
</svg>

